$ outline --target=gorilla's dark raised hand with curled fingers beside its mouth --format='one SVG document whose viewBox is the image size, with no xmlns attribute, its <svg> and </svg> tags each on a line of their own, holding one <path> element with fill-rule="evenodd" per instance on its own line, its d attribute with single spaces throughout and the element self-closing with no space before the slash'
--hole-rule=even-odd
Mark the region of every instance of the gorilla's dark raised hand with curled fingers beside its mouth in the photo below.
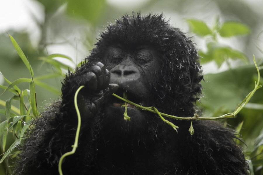
<svg viewBox="0 0 263 175">
<path fill-rule="evenodd" d="M 101 62 L 98 62 L 97 64 L 84 66 L 82 70 L 76 71 L 64 84 L 68 90 L 62 90 L 62 93 L 63 91 L 66 93 L 68 91 L 71 98 L 69 101 L 72 101 L 76 90 L 81 85 L 84 85 L 85 87 L 78 94 L 77 102 L 82 118 L 89 118 L 97 113 L 104 97 L 113 94 L 118 89 L 118 85 L 109 84 L 109 82 L 110 72 L 105 69 Z M 64 99 L 65 96 L 68 96 L 68 94 L 63 94 L 63 101 L 66 100 Z M 69 105 L 74 106 L 73 104 Z"/>
</svg>

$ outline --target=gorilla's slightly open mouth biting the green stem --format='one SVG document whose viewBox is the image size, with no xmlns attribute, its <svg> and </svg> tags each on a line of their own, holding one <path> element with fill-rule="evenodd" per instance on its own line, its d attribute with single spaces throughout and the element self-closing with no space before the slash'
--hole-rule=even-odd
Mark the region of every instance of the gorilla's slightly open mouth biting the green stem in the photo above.
<svg viewBox="0 0 263 175">
<path fill-rule="evenodd" d="M 124 90 L 122 88 L 119 88 L 115 94 L 120 96 L 120 97 L 123 97 L 123 92 L 126 92 L 127 94 L 127 99 L 129 99 L 130 101 L 136 103 L 136 104 L 141 104 L 143 102 L 143 100 L 138 97 L 136 94 L 134 94 L 133 92 L 130 92 L 129 90 Z M 122 101 L 121 99 L 117 98 L 117 97 L 113 97 L 111 99 L 111 102 L 113 104 L 114 107 L 122 107 L 124 105 L 124 101 Z M 129 104 L 127 103 L 127 107 L 130 107 L 130 108 L 135 108 L 134 105 L 132 104 Z"/>
</svg>

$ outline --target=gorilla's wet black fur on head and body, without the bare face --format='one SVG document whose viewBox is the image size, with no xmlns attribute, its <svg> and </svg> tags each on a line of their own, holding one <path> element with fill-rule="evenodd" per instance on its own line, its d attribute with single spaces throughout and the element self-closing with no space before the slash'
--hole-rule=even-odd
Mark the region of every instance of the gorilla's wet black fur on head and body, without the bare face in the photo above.
<svg viewBox="0 0 263 175">
<path fill-rule="evenodd" d="M 165 113 L 189 117 L 195 113 L 194 102 L 201 92 L 202 70 L 190 38 L 168 24 L 162 15 L 122 16 L 101 33 L 87 63 L 69 73 L 62 86 L 62 101 L 41 113 L 16 162 L 16 175 L 58 174 L 58 161 L 73 145 L 76 129 L 75 108 L 67 83 L 98 61 L 109 46 L 151 46 L 159 53 L 158 81 L 151 82 L 151 106 Z M 157 79 L 157 78 L 156 78 Z M 76 87 L 78 88 L 78 87 Z M 79 146 L 65 158 L 65 174 L 151 174 L 151 175 L 245 175 L 247 164 L 235 144 L 233 130 L 213 121 L 170 120 L 178 133 L 152 113 L 145 114 L 148 125 L 118 130 L 119 123 L 106 117 L 103 107 L 82 123 Z M 115 130 L 116 128 L 116 130 Z M 145 129 L 147 128 L 147 129 Z M 116 135 L 116 133 L 118 135 Z"/>
</svg>

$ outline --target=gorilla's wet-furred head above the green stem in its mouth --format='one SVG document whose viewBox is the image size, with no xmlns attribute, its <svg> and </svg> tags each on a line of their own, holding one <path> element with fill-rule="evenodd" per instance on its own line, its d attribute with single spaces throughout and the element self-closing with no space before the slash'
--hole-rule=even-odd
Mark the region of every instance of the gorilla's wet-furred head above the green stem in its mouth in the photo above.
<svg viewBox="0 0 263 175">
<path fill-rule="evenodd" d="M 105 64 L 111 83 L 126 90 L 128 99 L 171 115 L 193 116 L 203 78 L 198 55 L 191 40 L 162 15 L 122 16 L 95 45 L 87 59 Z"/>
</svg>

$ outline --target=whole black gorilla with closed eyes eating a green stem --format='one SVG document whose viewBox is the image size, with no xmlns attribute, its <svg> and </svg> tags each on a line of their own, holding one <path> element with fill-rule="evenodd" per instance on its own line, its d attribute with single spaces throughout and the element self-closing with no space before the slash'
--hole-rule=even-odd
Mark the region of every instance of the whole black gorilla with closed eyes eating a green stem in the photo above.
<svg viewBox="0 0 263 175">
<path fill-rule="evenodd" d="M 162 14 L 124 15 L 101 32 L 98 42 L 62 83 L 62 99 L 33 121 L 20 146 L 15 175 L 58 174 L 60 157 L 72 150 L 77 128 L 74 95 L 81 115 L 76 153 L 65 157 L 63 174 L 245 175 L 248 165 L 234 131 L 214 121 L 167 120 L 127 104 L 192 117 L 201 93 L 202 68 L 194 44 Z"/>
</svg>

